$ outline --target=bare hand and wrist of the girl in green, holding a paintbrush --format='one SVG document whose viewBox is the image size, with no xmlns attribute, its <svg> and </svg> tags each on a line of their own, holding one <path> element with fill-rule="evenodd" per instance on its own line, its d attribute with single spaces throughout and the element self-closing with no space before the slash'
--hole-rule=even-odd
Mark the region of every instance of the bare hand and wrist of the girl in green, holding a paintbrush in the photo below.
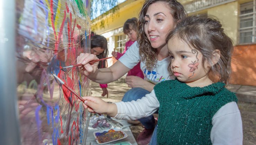
<svg viewBox="0 0 256 145">
<path fill-rule="evenodd" d="M 109 116 L 114 117 L 117 114 L 116 104 L 107 103 L 99 97 L 86 96 L 83 106 L 87 108 L 89 112 L 107 113 Z"/>
</svg>

